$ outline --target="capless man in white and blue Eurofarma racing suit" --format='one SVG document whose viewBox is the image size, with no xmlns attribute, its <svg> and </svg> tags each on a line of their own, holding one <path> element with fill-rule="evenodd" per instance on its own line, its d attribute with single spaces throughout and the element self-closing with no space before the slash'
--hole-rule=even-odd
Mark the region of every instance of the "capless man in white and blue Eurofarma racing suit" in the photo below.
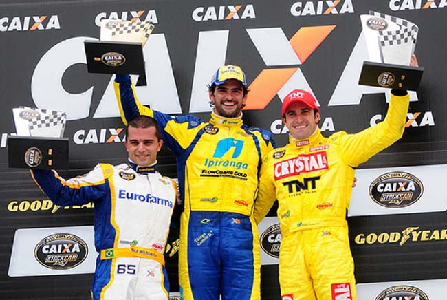
<svg viewBox="0 0 447 300">
<path fill-rule="evenodd" d="M 64 180 L 54 170 L 32 177 L 59 206 L 94 202 L 96 259 L 93 300 L 166 300 L 169 281 L 164 250 L 177 187 L 156 171 L 163 141 L 157 122 L 139 116 L 129 122 L 125 164 L 98 164 Z"/>
</svg>

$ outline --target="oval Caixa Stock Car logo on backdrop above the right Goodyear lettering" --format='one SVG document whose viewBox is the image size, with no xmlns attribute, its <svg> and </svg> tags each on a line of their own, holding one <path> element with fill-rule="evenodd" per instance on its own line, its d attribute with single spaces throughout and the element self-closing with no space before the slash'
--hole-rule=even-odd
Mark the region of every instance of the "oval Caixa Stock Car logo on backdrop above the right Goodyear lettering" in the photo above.
<svg viewBox="0 0 447 300">
<path fill-rule="evenodd" d="M 374 202 L 388 208 L 409 206 L 419 200 L 423 192 L 419 178 L 405 172 L 385 173 L 369 186 L 369 195 Z"/>
</svg>

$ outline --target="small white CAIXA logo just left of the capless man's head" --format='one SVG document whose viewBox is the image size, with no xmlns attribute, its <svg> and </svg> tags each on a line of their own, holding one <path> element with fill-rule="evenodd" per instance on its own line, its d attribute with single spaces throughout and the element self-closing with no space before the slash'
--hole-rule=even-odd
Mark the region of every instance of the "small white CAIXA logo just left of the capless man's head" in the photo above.
<svg viewBox="0 0 447 300">
<path fill-rule="evenodd" d="M 121 137 L 120 133 L 122 133 Z M 125 139 L 123 128 L 90 129 L 89 131 L 80 129 L 73 135 L 75 144 L 108 144 L 110 142 L 124 142 Z"/>
</svg>

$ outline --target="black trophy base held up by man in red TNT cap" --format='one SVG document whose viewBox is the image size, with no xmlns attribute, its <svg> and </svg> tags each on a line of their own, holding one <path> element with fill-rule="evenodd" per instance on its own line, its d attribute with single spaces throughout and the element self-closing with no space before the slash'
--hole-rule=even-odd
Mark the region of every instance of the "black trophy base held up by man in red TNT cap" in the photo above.
<svg viewBox="0 0 447 300">
<path fill-rule="evenodd" d="M 415 91 L 423 73 L 423 67 L 364 61 L 358 84 Z"/>
</svg>

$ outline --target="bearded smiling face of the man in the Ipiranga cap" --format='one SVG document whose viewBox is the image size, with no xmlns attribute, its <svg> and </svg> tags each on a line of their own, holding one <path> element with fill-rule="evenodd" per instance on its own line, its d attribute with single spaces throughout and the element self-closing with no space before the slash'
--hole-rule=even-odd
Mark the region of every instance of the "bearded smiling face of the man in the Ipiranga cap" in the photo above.
<svg viewBox="0 0 447 300">
<path fill-rule="evenodd" d="M 215 114 L 226 118 L 235 118 L 241 115 L 247 94 L 244 94 L 240 81 L 228 79 L 221 85 L 217 85 L 214 92 L 210 91 L 210 100 L 215 105 Z"/>
</svg>

